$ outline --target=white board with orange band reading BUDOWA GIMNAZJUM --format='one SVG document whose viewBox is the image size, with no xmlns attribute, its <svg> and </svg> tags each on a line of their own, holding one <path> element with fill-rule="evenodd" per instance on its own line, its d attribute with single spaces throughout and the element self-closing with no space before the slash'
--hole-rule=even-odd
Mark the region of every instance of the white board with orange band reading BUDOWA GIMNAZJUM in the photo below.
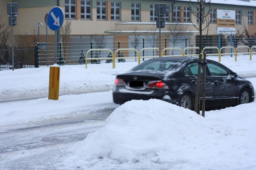
<svg viewBox="0 0 256 170">
<path fill-rule="evenodd" d="M 217 10 L 217 34 L 236 34 L 235 10 Z"/>
</svg>

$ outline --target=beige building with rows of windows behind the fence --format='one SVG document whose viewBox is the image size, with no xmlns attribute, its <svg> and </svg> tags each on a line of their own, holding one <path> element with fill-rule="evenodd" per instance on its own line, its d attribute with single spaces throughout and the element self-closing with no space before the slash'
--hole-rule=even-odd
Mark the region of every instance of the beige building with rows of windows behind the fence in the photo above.
<svg viewBox="0 0 256 170">
<path fill-rule="evenodd" d="M 192 1 L 192 2 L 191 2 Z M 40 27 L 40 42 L 46 42 L 45 15 L 54 6 L 62 8 L 65 19 L 71 22 L 71 32 L 69 42 L 91 42 L 94 37 L 104 35 L 107 42 L 129 42 L 135 35 L 140 38 L 152 37 L 152 32 L 157 33 L 155 4 L 166 4 L 165 28 L 162 28 L 161 38 L 168 38 L 168 46 L 174 45 L 171 29 L 183 29 L 183 37 L 187 40 L 197 37 L 198 30 L 194 25 L 198 24 L 199 5 L 196 0 L 1 0 L 0 10 L 6 22 L 7 3 L 18 3 L 17 26 L 14 27 L 14 37 L 23 36 L 29 45 L 34 45 L 38 41 L 38 27 L 36 22 L 44 23 Z M 210 8 L 207 7 L 203 15 L 209 11 L 210 25 L 209 32 L 203 31 L 203 36 L 209 38 L 209 46 L 217 46 L 218 34 L 216 23 L 216 11 L 235 10 L 236 11 L 236 31 L 242 32 L 248 29 L 250 34 L 256 32 L 256 1 L 254 0 L 212 0 Z M 193 15 L 193 13 L 195 15 Z M 183 28 L 168 27 L 173 23 L 185 25 Z M 206 22 L 203 22 L 203 27 Z M 62 26 L 63 27 L 63 26 Z M 207 36 L 206 36 L 207 34 Z M 62 35 L 60 34 L 61 39 Z M 197 46 L 197 42 L 187 42 L 181 40 L 176 47 Z M 61 40 L 60 40 L 61 41 Z M 157 41 L 157 40 L 156 40 Z M 186 42 L 185 42 L 186 41 Z M 48 29 L 48 42 L 54 42 L 54 31 Z M 114 46 L 114 44 L 113 44 Z M 148 47 L 149 44 L 148 44 Z M 157 45 L 156 45 L 157 47 Z M 116 48 L 115 46 L 113 48 Z"/>
</svg>

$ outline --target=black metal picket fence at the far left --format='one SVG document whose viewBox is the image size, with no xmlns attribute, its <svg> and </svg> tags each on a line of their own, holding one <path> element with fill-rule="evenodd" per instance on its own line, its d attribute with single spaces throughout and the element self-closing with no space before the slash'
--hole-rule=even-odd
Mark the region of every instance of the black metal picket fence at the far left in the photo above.
<svg viewBox="0 0 256 170">
<path fill-rule="evenodd" d="M 14 69 L 34 68 L 35 47 L 14 47 Z M 12 48 L 0 48 L 0 70 L 12 69 Z"/>
</svg>

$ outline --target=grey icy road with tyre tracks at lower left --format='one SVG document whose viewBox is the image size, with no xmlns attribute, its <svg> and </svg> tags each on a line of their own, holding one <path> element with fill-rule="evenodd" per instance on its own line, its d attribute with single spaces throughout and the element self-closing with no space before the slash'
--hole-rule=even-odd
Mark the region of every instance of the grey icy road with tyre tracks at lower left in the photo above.
<svg viewBox="0 0 256 170">
<path fill-rule="evenodd" d="M 98 110 L 89 116 L 1 127 L 0 169 L 63 169 L 54 166 L 67 154 L 66 148 L 101 128 L 114 109 Z"/>
</svg>

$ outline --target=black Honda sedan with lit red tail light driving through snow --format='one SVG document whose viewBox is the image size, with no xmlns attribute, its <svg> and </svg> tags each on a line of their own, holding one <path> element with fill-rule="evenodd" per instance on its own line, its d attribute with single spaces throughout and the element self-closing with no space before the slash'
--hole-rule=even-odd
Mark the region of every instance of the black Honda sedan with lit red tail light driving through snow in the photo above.
<svg viewBox="0 0 256 170">
<path fill-rule="evenodd" d="M 133 99 L 156 98 L 193 110 L 197 72 L 196 57 L 152 58 L 117 75 L 112 89 L 113 101 L 123 104 Z M 203 68 L 201 80 L 202 76 Z M 202 91 L 202 81 L 200 89 Z M 254 88 L 250 81 L 241 78 L 221 63 L 207 60 L 206 108 L 235 106 L 252 101 Z"/>
</svg>

